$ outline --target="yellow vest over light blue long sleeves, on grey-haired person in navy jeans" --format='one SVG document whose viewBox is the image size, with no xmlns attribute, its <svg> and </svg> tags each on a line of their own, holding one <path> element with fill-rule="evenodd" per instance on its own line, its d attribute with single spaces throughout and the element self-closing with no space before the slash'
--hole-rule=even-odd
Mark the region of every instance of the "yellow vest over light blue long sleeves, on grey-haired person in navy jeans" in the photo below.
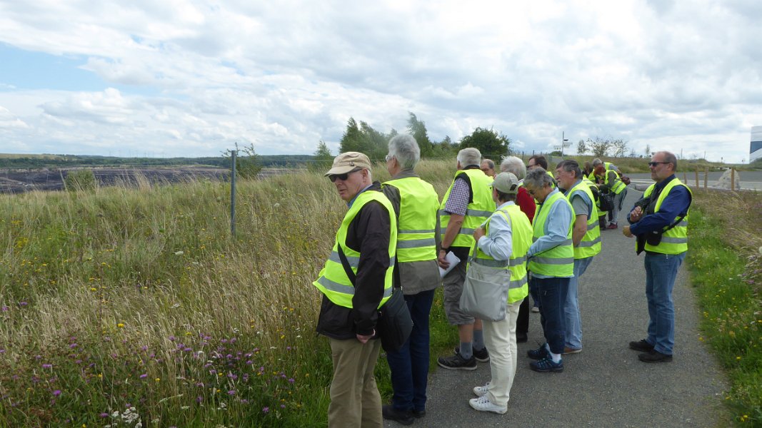
<svg viewBox="0 0 762 428">
<path fill-rule="evenodd" d="M 556 203 L 565 203 L 573 213 L 574 209 L 561 192 L 555 192 L 546 197 L 545 202 L 540 205 L 539 211 L 534 216 L 533 238 L 536 241 L 543 235 L 546 235 L 545 223 L 548 219 L 548 213 Z M 561 244 L 537 254 L 529 262 L 529 270 L 538 275 L 546 276 L 573 276 L 574 275 L 574 248 L 571 243 L 571 229 L 574 223 L 569 222 L 566 239 Z"/>
</svg>

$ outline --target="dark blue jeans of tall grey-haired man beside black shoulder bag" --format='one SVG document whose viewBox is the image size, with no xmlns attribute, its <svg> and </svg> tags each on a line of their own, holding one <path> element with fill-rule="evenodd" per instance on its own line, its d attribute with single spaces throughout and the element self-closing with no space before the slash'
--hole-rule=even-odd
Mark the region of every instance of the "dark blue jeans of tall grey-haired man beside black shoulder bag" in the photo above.
<svg viewBox="0 0 762 428">
<path fill-rule="evenodd" d="M 408 341 L 395 352 L 386 353 L 392 372 L 392 406 L 396 410 L 426 410 L 429 366 L 429 312 L 434 290 L 405 295 L 413 330 Z"/>
</svg>

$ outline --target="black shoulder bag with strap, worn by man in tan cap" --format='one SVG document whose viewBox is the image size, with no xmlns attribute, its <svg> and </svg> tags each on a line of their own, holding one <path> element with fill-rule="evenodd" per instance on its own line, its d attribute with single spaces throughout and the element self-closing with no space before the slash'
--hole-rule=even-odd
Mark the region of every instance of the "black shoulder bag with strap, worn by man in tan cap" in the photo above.
<svg viewBox="0 0 762 428">
<path fill-rule="evenodd" d="M 344 267 L 344 272 L 354 286 L 357 276 L 349 266 L 347 256 L 341 250 L 341 244 L 337 244 L 337 248 L 341 266 Z M 392 297 L 379 309 L 379 319 L 376 322 L 376 334 L 381 337 L 381 346 L 386 352 L 398 351 L 408 341 L 412 330 L 413 320 L 410 318 L 408 304 L 402 295 L 402 288 L 392 288 Z"/>
</svg>

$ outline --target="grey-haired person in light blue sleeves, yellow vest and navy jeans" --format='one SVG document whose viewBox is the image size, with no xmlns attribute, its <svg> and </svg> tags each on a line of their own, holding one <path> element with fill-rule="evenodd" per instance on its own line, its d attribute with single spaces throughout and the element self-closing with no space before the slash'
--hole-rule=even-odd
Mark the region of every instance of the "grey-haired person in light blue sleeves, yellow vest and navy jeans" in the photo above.
<svg viewBox="0 0 762 428">
<path fill-rule="evenodd" d="M 539 298 L 539 321 L 543 324 L 546 343 L 527 355 L 538 361 L 530 363 L 535 372 L 562 372 L 566 325 L 564 302 L 569 279 L 574 276 L 574 248 L 571 244 L 573 211 L 571 204 L 553 180 L 540 167 L 533 168 L 524 179 L 524 187 L 539 203 L 534 217 L 533 244 L 527 252 L 532 273 L 530 289 Z"/>
</svg>

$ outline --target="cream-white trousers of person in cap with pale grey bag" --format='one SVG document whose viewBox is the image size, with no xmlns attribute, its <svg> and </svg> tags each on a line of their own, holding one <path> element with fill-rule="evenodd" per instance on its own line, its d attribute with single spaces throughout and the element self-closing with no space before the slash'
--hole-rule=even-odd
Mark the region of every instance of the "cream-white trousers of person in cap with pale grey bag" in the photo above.
<svg viewBox="0 0 762 428">
<path fill-rule="evenodd" d="M 521 301 L 507 304 L 503 321 L 482 320 L 484 344 L 489 350 L 489 381 L 487 396 L 492 404 L 504 406 L 511 398 L 518 351 L 516 346 L 516 319 Z"/>
</svg>

